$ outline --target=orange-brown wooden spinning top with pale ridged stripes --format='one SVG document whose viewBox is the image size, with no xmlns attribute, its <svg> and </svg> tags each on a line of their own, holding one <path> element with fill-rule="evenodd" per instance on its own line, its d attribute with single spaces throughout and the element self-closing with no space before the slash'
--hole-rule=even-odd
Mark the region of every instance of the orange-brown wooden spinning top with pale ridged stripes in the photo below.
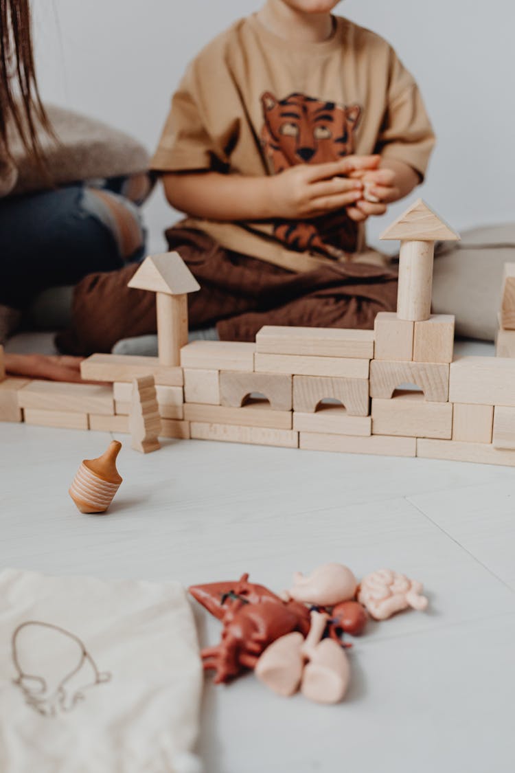
<svg viewBox="0 0 515 773">
<path fill-rule="evenodd" d="M 80 512 L 106 512 L 122 479 L 117 471 L 121 443 L 111 441 L 97 459 L 84 459 L 69 487 L 69 495 Z"/>
</svg>

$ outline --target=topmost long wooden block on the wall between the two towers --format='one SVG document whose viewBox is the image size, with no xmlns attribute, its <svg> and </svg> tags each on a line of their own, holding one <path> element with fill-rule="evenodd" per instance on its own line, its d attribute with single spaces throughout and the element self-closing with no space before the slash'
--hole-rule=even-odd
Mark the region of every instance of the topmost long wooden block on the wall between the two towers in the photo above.
<svg viewBox="0 0 515 773">
<path fill-rule="evenodd" d="M 372 359 L 374 333 L 371 330 L 266 325 L 256 335 L 256 352 Z"/>
</svg>

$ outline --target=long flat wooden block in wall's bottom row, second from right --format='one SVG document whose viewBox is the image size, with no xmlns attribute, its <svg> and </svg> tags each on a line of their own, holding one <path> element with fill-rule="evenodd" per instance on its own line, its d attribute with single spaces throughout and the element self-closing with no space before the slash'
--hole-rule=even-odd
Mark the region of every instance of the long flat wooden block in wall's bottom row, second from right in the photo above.
<svg viewBox="0 0 515 773">
<path fill-rule="evenodd" d="M 372 454 L 379 456 L 416 456 L 415 438 L 388 438 L 371 435 L 354 438 L 349 435 L 300 433 L 300 448 L 309 451 L 337 451 L 344 454 Z"/>
</svg>

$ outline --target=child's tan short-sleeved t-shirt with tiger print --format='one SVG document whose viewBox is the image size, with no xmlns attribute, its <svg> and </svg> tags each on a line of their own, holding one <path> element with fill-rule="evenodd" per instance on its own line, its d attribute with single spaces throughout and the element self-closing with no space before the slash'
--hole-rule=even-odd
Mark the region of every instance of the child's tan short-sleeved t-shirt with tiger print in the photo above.
<svg viewBox="0 0 515 773">
<path fill-rule="evenodd" d="M 415 80 L 374 32 L 334 17 L 324 43 L 291 43 L 251 15 L 188 67 L 152 168 L 270 175 L 381 153 L 422 177 L 434 141 Z M 362 227 L 345 210 L 306 221 L 187 223 L 224 247 L 298 271 L 364 246 Z"/>
</svg>

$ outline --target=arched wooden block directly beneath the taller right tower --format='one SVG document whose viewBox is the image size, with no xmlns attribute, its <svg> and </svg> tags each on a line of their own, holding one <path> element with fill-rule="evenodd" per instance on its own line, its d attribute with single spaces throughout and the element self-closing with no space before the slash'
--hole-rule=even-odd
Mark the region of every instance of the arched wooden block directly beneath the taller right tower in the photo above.
<svg viewBox="0 0 515 773">
<path fill-rule="evenodd" d="M 415 384 L 432 403 L 449 398 L 449 365 L 446 363 L 391 363 L 373 359 L 370 366 L 371 397 L 388 400 L 399 386 Z"/>
</svg>

